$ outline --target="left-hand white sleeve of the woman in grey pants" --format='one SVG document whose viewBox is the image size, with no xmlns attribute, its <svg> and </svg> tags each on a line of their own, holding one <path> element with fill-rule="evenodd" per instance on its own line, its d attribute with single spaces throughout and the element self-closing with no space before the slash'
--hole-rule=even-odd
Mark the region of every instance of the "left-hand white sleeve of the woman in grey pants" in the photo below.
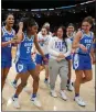
<svg viewBox="0 0 96 112">
<path fill-rule="evenodd" d="M 54 40 L 51 38 L 49 42 L 49 53 L 53 56 L 58 56 L 60 53 L 53 49 L 53 45 L 54 45 Z"/>
</svg>

